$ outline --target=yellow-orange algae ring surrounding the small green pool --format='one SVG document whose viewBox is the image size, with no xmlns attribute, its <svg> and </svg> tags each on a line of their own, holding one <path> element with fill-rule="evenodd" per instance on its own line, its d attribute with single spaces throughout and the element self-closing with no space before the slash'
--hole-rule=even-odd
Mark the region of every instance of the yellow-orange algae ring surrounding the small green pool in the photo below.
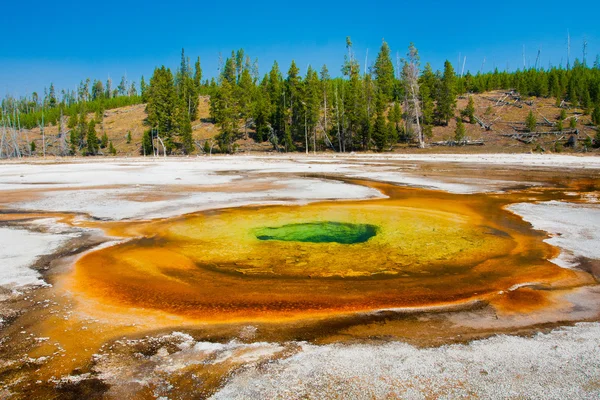
<svg viewBox="0 0 600 400">
<path fill-rule="evenodd" d="M 274 322 L 464 303 L 580 278 L 549 263 L 555 249 L 492 197 L 371 185 L 390 198 L 99 224 L 133 238 L 82 257 L 69 290 L 197 322 Z M 256 233 L 324 223 L 377 229 L 351 244 Z"/>
</svg>

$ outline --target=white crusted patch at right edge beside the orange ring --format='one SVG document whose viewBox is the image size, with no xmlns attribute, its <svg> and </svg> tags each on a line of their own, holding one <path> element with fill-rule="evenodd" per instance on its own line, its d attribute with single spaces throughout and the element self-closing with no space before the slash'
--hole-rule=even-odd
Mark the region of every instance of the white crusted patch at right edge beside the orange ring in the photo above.
<svg viewBox="0 0 600 400">
<path fill-rule="evenodd" d="M 577 258 L 600 260 L 600 205 L 563 201 L 517 203 L 506 207 L 529 222 L 534 229 L 548 232 L 544 241 L 561 249 L 553 260 L 563 268 L 577 266 Z"/>
</svg>

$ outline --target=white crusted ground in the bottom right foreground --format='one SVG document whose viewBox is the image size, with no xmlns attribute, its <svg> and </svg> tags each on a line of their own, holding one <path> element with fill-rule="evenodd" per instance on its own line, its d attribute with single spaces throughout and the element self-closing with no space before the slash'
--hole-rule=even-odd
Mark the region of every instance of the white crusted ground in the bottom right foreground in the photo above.
<svg viewBox="0 0 600 400">
<path fill-rule="evenodd" d="M 600 324 L 469 344 L 301 344 L 291 357 L 246 366 L 213 399 L 598 398 Z"/>
</svg>

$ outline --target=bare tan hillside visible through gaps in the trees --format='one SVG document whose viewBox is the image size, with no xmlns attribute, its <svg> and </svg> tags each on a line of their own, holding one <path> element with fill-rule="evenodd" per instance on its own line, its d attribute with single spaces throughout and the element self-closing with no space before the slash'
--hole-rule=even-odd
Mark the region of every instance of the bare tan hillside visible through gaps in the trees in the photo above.
<svg viewBox="0 0 600 400">
<path fill-rule="evenodd" d="M 568 134 L 561 135 L 542 135 L 539 138 L 525 138 L 525 141 L 516 140 L 508 137 L 522 128 L 527 114 L 530 110 L 536 116 L 538 127 L 537 131 L 555 130 L 550 127 L 547 121 L 555 123 L 561 112 L 561 108 L 556 105 L 553 98 L 528 98 L 523 101 L 516 101 L 502 90 L 487 92 L 483 94 L 472 95 L 475 103 L 475 115 L 486 125 L 491 125 L 490 130 L 484 129 L 480 124 L 465 123 L 466 137 L 471 141 L 483 141 L 482 146 L 428 146 L 426 149 L 417 149 L 412 144 L 397 144 L 394 146 L 394 152 L 579 152 L 583 151 L 583 141 L 589 136 L 593 138 L 596 135 L 596 128 L 591 125 L 591 119 L 588 115 L 583 115 L 583 110 L 578 108 L 565 108 L 567 119 L 563 122 L 564 130 L 569 130 L 569 120 L 576 119 L 576 127 L 579 130 L 578 146 L 575 149 L 564 147 L 569 139 Z M 498 101 L 501 100 L 501 101 Z M 208 96 L 200 97 L 198 106 L 198 119 L 192 122 L 193 138 L 196 143 L 194 154 L 202 154 L 201 146 L 206 140 L 214 138 L 219 132 L 218 128 L 210 119 Z M 459 98 L 457 101 L 457 115 L 459 111 L 467 106 L 466 97 Z M 89 114 L 89 119 L 93 114 Z M 147 127 L 144 124 L 147 115 L 145 105 L 138 104 L 113 110 L 107 110 L 104 113 L 103 123 L 98 124 L 96 130 L 98 137 L 102 136 L 103 130 L 106 132 L 109 140 L 113 142 L 119 156 L 138 156 L 140 154 L 141 140 L 144 130 Z M 456 122 L 452 120 L 448 126 L 436 126 L 433 128 L 433 136 L 428 139 L 428 143 L 448 141 L 454 138 Z M 516 128 L 516 129 L 515 129 Z M 131 142 L 127 143 L 127 133 L 131 132 Z M 49 126 L 45 129 L 46 134 L 46 155 L 55 155 L 60 147 L 58 137 L 58 128 Z M 34 141 L 36 152 L 33 155 L 42 154 L 42 135 L 39 128 L 24 131 L 23 139 L 28 142 Z M 560 143 L 558 147 L 555 142 Z M 236 142 L 240 152 L 271 152 L 272 146 L 268 142 L 256 143 L 254 140 L 240 139 Z M 103 150 L 108 154 L 108 151 Z M 592 151 L 598 152 L 597 149 Z"/>
</svg>

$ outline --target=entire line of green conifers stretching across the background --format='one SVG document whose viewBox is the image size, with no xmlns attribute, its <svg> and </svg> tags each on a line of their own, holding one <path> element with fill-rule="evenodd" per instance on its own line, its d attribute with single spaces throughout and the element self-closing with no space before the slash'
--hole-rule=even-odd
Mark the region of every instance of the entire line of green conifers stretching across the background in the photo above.
<svg viewBox="0 0 600 400">
<path fill-rule="evenodd" d="M 214 143 L 204 142 L 206 152 L 233 153 L 241 138 L 288 152 L 385 151 L 398 142 L 424 147 L 434 126 L 448 125 L 457 117 L 456 137 L 464 138 L 463 122 L 475 123 L 474 105 L 470 99 L 464 110 L 456 110 L 458 96 L 515 89 L 522 96 L 552 96 L 557 105 L 581 107 L 600 125 L 598 58 L 592 66 L 575 60 L 566 69 L 494 69 L 459 75 L 449 61 L 442 71 L 434 71 L 428 63 L 422 66 L 413 44 L 394 62 L 385 41 L 374 63 L 361 66 L 348 37 L 344 62 L 335 75 L 326 65 L 319 70 L 309 66 L 302 75 L 294 61 L 283 72 L 275 61 L 260 76 L 258 60 L 252 61 L 240 49 L 220 59 L 216 78 L 202 81 L 200 59 L 192 66 L 182 49 L 174 73 L 165 66 L 156 68 L 148 82 L 141 77 L 139 90 L 125 77 L 116 88 L 110 79 L 106 83 L 86 79 L 77 90 L 63 90 L 60 96 L 51 84 L 43 96 L 7 96 L 1 121 L 19 129 L 60 125 L 62 132 L 63 117 L 68 118 L 69 152 L 96 154 L 97 145 L 109 145 L 95 136 L 104 110 L 145 103 L 147 130 L 140 153 L 153 154 L 160 146 L 167 154 L 189 154 L 196 148 L 192 122 L 198 118 L 199 96 L 209 95 L 210 115 L 219 133 Z M 88 113 L 96 117 L 88 121 Z"/>
</svg>

